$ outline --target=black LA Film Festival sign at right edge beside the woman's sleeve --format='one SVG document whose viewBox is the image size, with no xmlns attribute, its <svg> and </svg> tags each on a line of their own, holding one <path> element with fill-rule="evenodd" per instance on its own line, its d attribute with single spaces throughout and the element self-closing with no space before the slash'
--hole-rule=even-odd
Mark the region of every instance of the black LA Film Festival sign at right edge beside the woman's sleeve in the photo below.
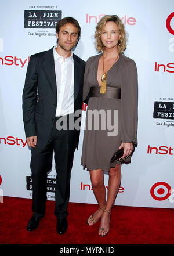
<svg viewBox="0 0 174 256">
<path fill-rule="evenodd" d="M 154 102 L 153 117 L 174 119 L 174 102 Z"/>
</svg>

